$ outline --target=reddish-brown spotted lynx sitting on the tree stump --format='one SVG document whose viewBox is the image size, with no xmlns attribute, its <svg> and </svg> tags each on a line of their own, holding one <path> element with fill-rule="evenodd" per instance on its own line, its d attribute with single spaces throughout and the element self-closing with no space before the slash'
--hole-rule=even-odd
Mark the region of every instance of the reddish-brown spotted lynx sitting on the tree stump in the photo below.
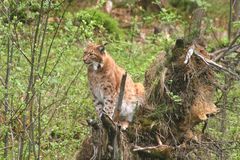
<svg viewBox="0 0 240 160">
<path fill-rule="evenodd" d="M 111 118 L 116 117 L 114 110 L 125 70 L 115 63 L 103 45 L 89 43 L 84 50 L 83 61 L 88 65 L 88 81 L 98 115 L 101 117 L 105 112 Z M 115 121 L 122 122 L 122 127 L 126 128 L 133 119 L 136 107 L 143 101 L 143 85 L 134 83 L 128 74 L 121 112 Z"/>
</svg>

